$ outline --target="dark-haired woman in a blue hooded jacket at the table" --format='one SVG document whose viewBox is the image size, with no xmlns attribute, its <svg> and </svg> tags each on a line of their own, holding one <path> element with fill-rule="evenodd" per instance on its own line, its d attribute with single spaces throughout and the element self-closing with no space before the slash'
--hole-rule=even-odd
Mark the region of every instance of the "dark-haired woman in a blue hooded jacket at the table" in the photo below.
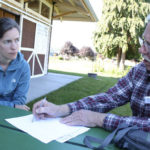
<svg viewBox="0 0 150 150">
<path fill-rule="evenodd" d="M 20 29 L 15 20 L 0 19 L 0 105 L 29 110 L 25 105 L 30 68 L 19 51 Z"/>
</svg>

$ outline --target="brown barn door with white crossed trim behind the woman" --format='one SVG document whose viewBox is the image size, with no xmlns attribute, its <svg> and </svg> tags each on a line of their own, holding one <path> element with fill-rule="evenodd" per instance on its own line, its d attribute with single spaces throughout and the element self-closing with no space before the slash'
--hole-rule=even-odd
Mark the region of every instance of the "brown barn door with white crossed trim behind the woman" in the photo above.
<svg viewBox="0 0 150 150">
<path fill-rule="evenodd" d="M 49 37 L 48 25 L 22 17 L 21 52 L 30 64 L 32 77 L 47 73 Z"/>
</svg>

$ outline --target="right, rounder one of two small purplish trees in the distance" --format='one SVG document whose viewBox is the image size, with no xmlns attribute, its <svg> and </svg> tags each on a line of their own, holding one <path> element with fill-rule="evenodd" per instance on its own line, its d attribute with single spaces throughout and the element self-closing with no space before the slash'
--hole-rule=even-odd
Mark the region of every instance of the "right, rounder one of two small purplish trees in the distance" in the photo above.
<svg viewBox="0 0 150 150">
<path fill-rule="evenodd" d="M 80 49 L 79 56 L 80 57 L 88 57 L 89 59 L 93 60 L 95 54 L 91 47 L 84 46 Z"/>
</svg>

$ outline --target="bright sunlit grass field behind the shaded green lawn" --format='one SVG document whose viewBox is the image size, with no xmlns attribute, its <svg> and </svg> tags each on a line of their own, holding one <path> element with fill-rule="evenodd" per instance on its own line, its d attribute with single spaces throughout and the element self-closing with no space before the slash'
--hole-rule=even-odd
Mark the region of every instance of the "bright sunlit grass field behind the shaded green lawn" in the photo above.
<svg viewBox="0 0 150 150">
<path fill-rule="evenodd" d="M 74 72 L 87 74 L 89 72 L 97 73 L 100 76 L 109 77 L 122 77 L 126 75 L 127 72 L 136 63 L 132 61 L 125 61 L 125 70 L 117 68 L 116 60 L 112 59 L 100 59 L 97 57 L 95 61 L 90 61 L 88 59 L 78 59 L 72 57 L 70 60 L 60 60 L 60 56 L 49 57 L 49 69 L 64 71 L 64 72 Z"/>
</svg>

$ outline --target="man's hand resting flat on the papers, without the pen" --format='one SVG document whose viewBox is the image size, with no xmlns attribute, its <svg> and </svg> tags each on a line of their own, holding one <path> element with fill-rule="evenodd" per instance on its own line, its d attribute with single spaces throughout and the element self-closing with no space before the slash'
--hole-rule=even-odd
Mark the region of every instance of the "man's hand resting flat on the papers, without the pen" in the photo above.
<svg viewBox="0 0 150 150">
<path fill-rule="evenodd" d="M 71 115 L 61 119 L 61 122 L 67 125 L 81 125 L 87 127 L 102 127 L 106 114 L 93 112 L 89 110 L 79 110 Z"/>
</svg>

